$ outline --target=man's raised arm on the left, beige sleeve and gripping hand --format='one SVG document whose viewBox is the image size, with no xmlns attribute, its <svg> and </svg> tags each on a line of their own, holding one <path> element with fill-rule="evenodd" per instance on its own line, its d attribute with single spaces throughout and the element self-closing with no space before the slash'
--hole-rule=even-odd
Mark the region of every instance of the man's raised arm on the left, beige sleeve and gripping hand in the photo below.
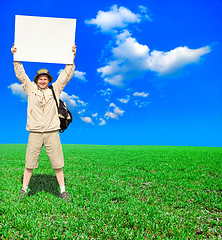
<svg viewBox="0 0 222 240">
<path fill-rule="evenodd" d="M 17 48 L 15 47 L 15 44 L 13 44 L 13 46 L 11 48 L 12 54 L 14 55 L 14 53 L 16 53 L 16 51 L 17 51 Z M 25 92 L 28 94 L 28 89 L 31 84 L 31 81 L 30 81 L 29 77 L 27 76 L 27 74 L 25 73 L 22 63 L 20 63 L 18 61 L 14 61 L 13 64 L 14 64 L 15 75 L 18 78 L 18 80 L 22 83 L 22 86 L 23 86 Z"/>
</svg>

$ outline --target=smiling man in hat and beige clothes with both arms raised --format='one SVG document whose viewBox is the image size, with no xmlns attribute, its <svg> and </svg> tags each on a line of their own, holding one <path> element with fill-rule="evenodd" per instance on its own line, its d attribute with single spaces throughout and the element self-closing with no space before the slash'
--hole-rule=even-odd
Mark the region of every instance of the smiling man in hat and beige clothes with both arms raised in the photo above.
<svg viewBox="0 0 222 240">
<path fill-rule="evenodd" d="M 14 55 L 16 51 L 17 49 L 13 44 L 11 48 L 12 54 Z M 73 64 L 67 64 L 56 82 L 52 84 L 58 102 L 62 90 L 74 74 L 75 45 L 72 47 L 72 51 Z M 14 61 L 14 70 L 16 77 L 22 83 L 22 87 L 28 95 L 26 129 L 30 132 L 25 158 L 23 187 L 19 193 L 19 198 L 27 195 L 27 188 L 33 169 L 38 167 L 39 155 L 42 146 L 45 145 L 46 153 L 51 161 L 52 168 L 55 169 L 56 178 L 60 186 L 60 198 L 70 200 L 68 193 L 65 191 L 64 158 L 59 138 L 60 121 L 58 109 L 52 90 L 48 88 L 48 84 L 52 82 L 53 78 L 49 71 L 43 68 L 37 72 L 34 82 L 31 82 L 25 73 L 22 63 L 18 61 Z"/>
</svg>

